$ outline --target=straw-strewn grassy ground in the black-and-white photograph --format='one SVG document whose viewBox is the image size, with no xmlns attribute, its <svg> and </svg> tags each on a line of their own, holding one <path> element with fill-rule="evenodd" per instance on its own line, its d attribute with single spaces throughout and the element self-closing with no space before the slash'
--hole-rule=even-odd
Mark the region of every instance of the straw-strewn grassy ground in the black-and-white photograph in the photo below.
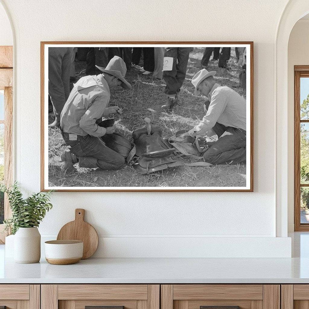
<svg viewBox="0 0 309 309">
<path fill-rule="evenodd" d="M 181 106 L 172 113 L 162 111 L 165 101 L 164 81 L 144 76 L 136 70 L 127 72 L 126 79 L 132 85 L 130 91 L 117 89 L 112 91 L 110 105 L 123 108 L 123 114 L 116 119 L 117 130 L 128 138 L 132 131 L 145 124 L 149 117 L 153 125 L 164 128 L 163 135 L 170 137 L 180 129 L 192 129 L 205 115 L 204 99 L 193 95 L 191 79 L 201 68 L 202 48 L 195 48 L 190 53 L 187 75 L 180 91 Z M 215 79 L 219 84 L 227 85 L 245 95 L 238 87 L 239 68 L 235 52 L 232 50 L 229 62 L 230 70 L 218 68 L 217 62 L 209 62 L 208 70 L 217 71 Z M 84 76 L 84 61 L 75 62 L 77 78 Z M 81 72 L 81 73 L 80 73 Z M 53 115 L 49 115 L 49 121 Z M 246 165 L 218 165 L 210 167 L 180 166 L 155 172 L 149 175 L 137 174 L 133 168 L 126 166 L 119 171 L 103 171 L 78 168 L 76 173 L 66 174 L 60 155 L 66 145 L 59 129 L 49 129 L 49 185 L 61 187 L 238 187 L 246 185 Z"/>
</svg>

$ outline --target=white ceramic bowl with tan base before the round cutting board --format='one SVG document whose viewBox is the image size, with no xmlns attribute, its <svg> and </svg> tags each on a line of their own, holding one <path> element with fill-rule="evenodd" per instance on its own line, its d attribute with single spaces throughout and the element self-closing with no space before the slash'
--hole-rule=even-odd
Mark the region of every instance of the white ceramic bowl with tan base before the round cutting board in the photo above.
<svg viewBox="0 0 309 309">
<path fill-rule="evenodd" d="M 44 243 L 47 262 L 55 265 L 75 264 L 83 257 L 81 240 L 49 240 Z"/>
</svg>

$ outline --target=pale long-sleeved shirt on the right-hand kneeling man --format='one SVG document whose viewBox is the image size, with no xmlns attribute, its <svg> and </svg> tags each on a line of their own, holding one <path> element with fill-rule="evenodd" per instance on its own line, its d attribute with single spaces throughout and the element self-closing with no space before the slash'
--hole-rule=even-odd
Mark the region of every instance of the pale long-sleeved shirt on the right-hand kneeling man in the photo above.
<svg viewBox="0 0 309 309">
<path fill-rule="evenodd" d="M 242 96 L 230 87 L 216 83 L 209 92 L 208 99 L 210 104 L 206 115 L 197 126 L 188 132 L 189 135 L 196 136 L 206 133 L 214 127 L 216 122 L 226 127 L 246 131 L 246 100 Z"/>
</svg>

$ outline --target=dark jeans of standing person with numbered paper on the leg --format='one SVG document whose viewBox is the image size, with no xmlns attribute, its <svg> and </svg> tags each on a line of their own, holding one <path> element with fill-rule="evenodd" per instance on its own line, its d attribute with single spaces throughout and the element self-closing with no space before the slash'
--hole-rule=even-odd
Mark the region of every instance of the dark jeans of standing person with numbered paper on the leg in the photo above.
<svg viewBox="0 0 309 309">
<path fill-rule="evenodd" d="M 190 47 L 167 47 L 165 49 L 164 57 L 174 58 L 172 70 L 163 71 L 166 83 L 165 94 L 176 95 L 180 91 L 186 77 L 189 53 Z"/>
</svg>

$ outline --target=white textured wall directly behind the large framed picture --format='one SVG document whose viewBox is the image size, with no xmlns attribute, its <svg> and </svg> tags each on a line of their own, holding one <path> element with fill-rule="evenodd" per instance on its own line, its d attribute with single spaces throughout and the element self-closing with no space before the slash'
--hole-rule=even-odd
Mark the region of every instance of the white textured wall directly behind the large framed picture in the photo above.
<svg viewBox="0 0 309 309">
<path fill-rule="evenodd" d="M 249 250 L 249 237 L 276 236 L 274 44 L 285 0 L 2 2 L 16 33 L 16 179 L 28 193 L 40 190 L 40 41 L 254 41 L 254 193 L 55 193 L 42 234 L 57 234 L 79 207 L 101 237 L 127 243 L 247 237 Z"/>
</svg>

